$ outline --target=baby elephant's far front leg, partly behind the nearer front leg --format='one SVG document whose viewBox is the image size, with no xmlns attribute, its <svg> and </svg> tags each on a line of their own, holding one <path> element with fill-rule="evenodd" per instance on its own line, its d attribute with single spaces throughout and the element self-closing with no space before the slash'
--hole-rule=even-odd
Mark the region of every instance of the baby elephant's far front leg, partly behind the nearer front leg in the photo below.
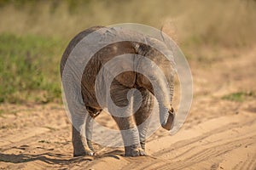
<svg viewBox="0 0 256 170">
<path fill-rule="evenodd" d="M 145 140 L 147 138 L 148 133 L 148 125 L 149 125 L 149 116 L 153 110 L 154 106 L 154 96 L 150 94 L 146 88 L 139 88 L 141 94 L 143 95 L 143 101 L 140 108 L 135 112 L 135 120 L 137 124 L 137 128 L 139 131 L 140 144 L 145 150 Z M 134 103 L 138 103 L 135 98 Z"/>
</svg>

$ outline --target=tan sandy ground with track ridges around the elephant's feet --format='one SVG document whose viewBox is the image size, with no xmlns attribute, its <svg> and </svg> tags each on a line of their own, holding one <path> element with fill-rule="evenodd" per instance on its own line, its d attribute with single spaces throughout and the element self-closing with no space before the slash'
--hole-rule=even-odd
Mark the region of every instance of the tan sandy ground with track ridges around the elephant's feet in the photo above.
<svg viewBox="0 0 256 170">
<path fill-rule="evenodd" d="M 62 105 L 0 105 L 0 169 L 256 169 L 256 50 L 191 61 L 194 100 L 187 121 L 170 136 L 148 139 L 148 156 L 96 145 L 98 156 L 73 158 L 71 124 Z M 113 126 L 114 122 L 101 118 Z"/>
</svg>

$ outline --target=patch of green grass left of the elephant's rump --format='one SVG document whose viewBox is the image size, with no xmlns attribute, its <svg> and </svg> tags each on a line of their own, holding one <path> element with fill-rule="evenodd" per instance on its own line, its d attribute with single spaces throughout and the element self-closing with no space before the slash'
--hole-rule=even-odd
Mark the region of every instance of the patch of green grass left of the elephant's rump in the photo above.
<svg viewBox="0 0 256 170">
<path fill-rule="evenodd" d="M 0 34 L 0 102 L 61 101 L 59 39 Z"/>
</svg>

